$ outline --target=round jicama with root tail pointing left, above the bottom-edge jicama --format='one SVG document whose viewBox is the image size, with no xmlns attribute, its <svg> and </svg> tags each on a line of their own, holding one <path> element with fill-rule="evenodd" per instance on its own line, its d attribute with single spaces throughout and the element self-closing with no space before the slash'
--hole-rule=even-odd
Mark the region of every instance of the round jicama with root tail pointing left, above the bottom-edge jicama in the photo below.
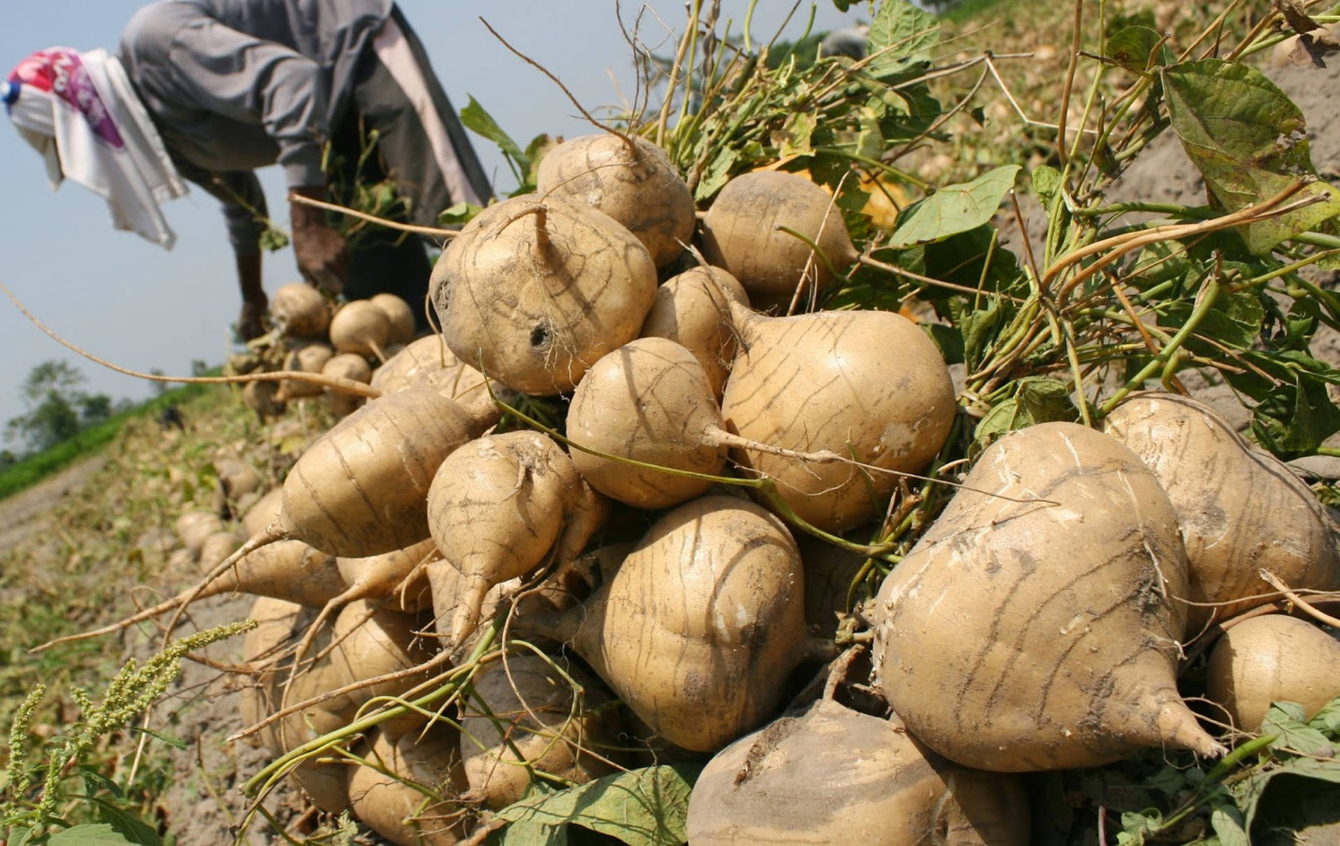
<svg viewBox="0 0 1340 846">
<path fill-rule="evenodd" d="M 738 497 L 657 521 L 583 605 L 520 625 L 572 648 L 665 740 L 710 752 L 766 720 L 804 657 L 800 554 Z"/>
</svg>

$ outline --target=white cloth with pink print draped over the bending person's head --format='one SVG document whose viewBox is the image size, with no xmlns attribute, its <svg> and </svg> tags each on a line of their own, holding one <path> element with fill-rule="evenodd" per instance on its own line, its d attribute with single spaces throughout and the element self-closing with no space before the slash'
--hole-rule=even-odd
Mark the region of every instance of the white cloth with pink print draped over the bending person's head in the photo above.
<svg viewBox="0 0 1340 846">
<path fill-rule="evenodd" d="M 52 187 L 62 178 L 84 186 L 107 201 L 117 229 L 172 249 L 177 236 L 159 203 L 186 183 L 117 58 L 52 47 L 20 62 L 9 83 L 9 119 L 42 153 Z"/>
</svg>

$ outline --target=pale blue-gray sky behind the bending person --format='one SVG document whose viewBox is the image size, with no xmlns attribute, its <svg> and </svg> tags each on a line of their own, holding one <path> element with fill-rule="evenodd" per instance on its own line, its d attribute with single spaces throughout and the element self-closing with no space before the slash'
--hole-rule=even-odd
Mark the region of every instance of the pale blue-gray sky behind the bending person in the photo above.
<svg viewBox="0 0 1340 846">
<path fill-rule="evenodd" d="M 122 25 L 141 0 L 46 0 L 8 9 L 0 27 L 0 74 L 35 50 L 56 44 L 76 50 L 111 50 Z M 658 54 L 673 52 L 683 25 L 683 3 L 653 0 L 643 19 L 642 40 Z M 758 0 L 753 31 L 770 36 L 791 0 Z M 808 12 L 801 3 L 791 35 L 799 35 Z M 726 0 L 724 13 L 740 29 L 745 0 Z M 448 3 L 401 0 L 423 40 L 453 104 L 473 95 L 501 127 L 525 143 L 540 133 L 580 135 L 590 124 L 535 68 L 493 39 L 482 15 L 513 46 L 553 71 L 587 108 L 632 96 L 631 51 L 620 35 L 614 0 L 511 0 Z M 639 9 L 622 5 L 626 21 Z M 832 29 L 863 19 L 862 4 L 838 12 L 817 3 L 816 27 Z M 8 124 L 8 120 L 0 120 Z M 501 157 L 488 141 L 476 150 L 498 190 L 515 186 Z M 287 217 L 277 169 L 260 171 L 272 213 Z M 240 307 L 233 260 L 217 202 L 200 189 L 165 210 L 177 230 L 176 249 L 149 244 L 111 229 L 106 205 L 76 185 L 52 193 L 40 158 L 13 131 L 0 126 L 0 281 L 66 339 L 133 369 L 159 368 L 189 373 L 193 359 L 210 364 L 229 352 L 228 327 Z M 293 281 L 288 250 L 265 257 L 265 289 Z M 46 359 L 70 359 L 88 387 L 114 398 L 142 398 L 147 383 L 106 371 L 64 351 L 42 335 L 8 301 L 0 300 L 0 423 L 24 410 L 19 386 Z"/>
</svg>

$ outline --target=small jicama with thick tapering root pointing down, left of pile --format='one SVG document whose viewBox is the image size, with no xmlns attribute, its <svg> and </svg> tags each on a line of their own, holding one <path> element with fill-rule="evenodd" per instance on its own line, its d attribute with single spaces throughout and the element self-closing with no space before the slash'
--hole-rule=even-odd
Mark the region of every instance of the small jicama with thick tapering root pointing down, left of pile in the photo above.
<svg viewBox="0 0 1340 846">
<path fill-rule="evenodd" d="M 478 625 L 493 585 L 551 556 L 559 566 L 575 558 L 608 506 L 553 440 L 516 431 L 485 435 L 448 456 L 427 510 L 442 554 L 427 566 L 437 625 L 460 645 Z"/>
</svg>

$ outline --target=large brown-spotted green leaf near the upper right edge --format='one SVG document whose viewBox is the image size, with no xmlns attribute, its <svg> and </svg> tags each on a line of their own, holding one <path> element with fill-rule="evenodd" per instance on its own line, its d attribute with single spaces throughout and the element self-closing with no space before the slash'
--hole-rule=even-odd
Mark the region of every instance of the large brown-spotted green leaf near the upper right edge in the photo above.
<svg viewBox="0 0 1340 846">
<path fill-rule="evenodd" d="M 1172 130 L 1230 212 L 1316 177 L 1302 111 L 1261 71 L 1205 59 L 1164 68 L 1162 80 Z M 1340 214 L 1340 193 L 1331 186 L 1313 182 L 1294 198 L 1309 194 L 1329 198 L 1246 228 L 1254 254 Z"/>
</svg>

